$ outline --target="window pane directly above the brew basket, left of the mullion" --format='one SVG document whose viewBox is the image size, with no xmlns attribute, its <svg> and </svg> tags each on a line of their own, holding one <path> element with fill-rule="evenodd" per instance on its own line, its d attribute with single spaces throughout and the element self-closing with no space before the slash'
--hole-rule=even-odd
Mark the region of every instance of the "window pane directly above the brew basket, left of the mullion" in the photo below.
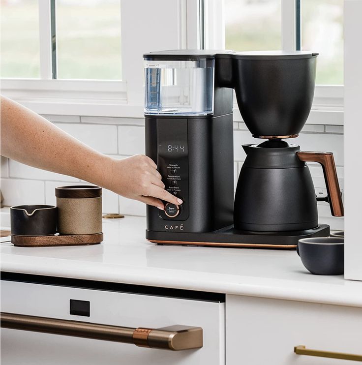
<svg viewBox="0 0 362 365">
<path fill-rule="evenodd" d="M 281 0 L 225 0 L 225 48 L 281 49 Z"/>
</svg>

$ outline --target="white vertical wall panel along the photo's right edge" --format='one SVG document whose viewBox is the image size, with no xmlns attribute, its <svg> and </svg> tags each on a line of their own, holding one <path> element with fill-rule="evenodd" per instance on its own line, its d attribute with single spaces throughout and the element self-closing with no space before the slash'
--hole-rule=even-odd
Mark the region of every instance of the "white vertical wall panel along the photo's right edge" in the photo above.
<svg viewBox="0 0 362 365">
<path fill-rule="evenodd" d="M 362 135 L 362 48 L 361 48 L 362 0 L 345 0 L 344 16 L 344 84 L 345 84 L 345 161 L 346 161 L 346 235 L 344 247 L 344 277 L 362 280 L 362 194 L 359 143 Z"/>
</svg>

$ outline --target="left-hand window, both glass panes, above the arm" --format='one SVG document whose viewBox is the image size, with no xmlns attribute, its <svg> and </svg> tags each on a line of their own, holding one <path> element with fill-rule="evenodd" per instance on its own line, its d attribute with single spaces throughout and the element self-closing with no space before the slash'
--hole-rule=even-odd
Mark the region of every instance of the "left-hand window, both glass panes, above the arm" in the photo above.
<svg viewBox="0 0 362 365">
<path fill-rule="evenodd" d="M 1 0 L 1 77 L 41 78 L 42 41 L 53 79 L 121 80 L 121 1 Z"/>
</svg>

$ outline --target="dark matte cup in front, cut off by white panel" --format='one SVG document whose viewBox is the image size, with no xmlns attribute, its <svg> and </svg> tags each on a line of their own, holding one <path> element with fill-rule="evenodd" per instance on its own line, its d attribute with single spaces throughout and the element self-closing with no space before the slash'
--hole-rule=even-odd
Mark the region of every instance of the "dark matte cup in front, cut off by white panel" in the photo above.
<svg viewBox="0 0 362 365">
<path fill-rule="evenodd" d="M 340 275 L 344 272 L 343 238 L 303 238 L 298 242 L 297 252 L 312 274 Z"/>
</svg>

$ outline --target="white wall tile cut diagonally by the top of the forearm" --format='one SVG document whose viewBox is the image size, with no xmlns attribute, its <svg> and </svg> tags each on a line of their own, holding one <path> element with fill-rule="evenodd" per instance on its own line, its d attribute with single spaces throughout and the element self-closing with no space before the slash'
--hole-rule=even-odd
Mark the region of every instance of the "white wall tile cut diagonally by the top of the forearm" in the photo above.
<svg viewBox="0 0 362 365">
<path fill-rule="evenodd" d="M 118 153 L 116 125 L 64 123 L 57 126 L 98 152 Z"/>
</svg>

